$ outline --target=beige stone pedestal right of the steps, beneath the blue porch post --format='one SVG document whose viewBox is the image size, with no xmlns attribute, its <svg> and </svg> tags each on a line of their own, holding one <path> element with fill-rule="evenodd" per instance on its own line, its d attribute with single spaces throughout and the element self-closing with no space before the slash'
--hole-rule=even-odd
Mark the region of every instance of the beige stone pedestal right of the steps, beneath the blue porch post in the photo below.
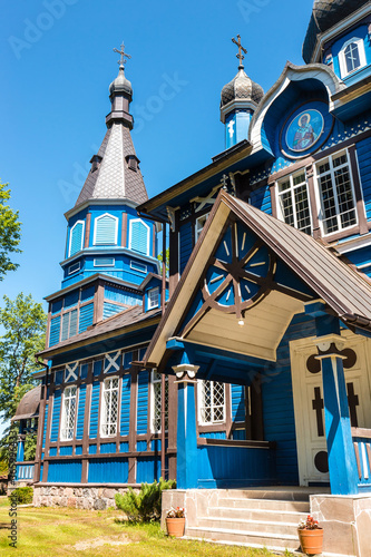
<svg viewBox="0 0 371 557">
<path fill-rule="evenodd" d="M 311 514 L 324 529 L 323 553 L 370 557 L 371 497 L 311 496 Z"/>
</svg>

